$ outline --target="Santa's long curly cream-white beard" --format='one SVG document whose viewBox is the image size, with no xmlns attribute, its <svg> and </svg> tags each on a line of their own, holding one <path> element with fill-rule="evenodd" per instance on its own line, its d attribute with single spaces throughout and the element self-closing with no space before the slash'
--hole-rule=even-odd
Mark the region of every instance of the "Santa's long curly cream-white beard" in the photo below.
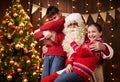
<svg viewBox="0 0 120 82">
<path fill-rule="evenodd" d="M 70 37 L 72 41 L 75 41 L 80 46 L 85 40 L 86 31 L 85 27 L 64 28 L 63 33 L 65 34 L 65 38 L 63 40 L 62 46 L 64 51 L 67 52 L 67 57 L 69 58 L 74 50 L 70 46 L 70 42 L 67 41 L 66 37 Z"/>
</svg>

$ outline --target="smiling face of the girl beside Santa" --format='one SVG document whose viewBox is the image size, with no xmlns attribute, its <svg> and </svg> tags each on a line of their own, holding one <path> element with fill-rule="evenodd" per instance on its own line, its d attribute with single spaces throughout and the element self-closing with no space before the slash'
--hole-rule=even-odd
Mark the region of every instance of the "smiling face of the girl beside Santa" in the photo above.
<svg viewBox="0 0 120 82">
<path fill-rule="evenodd" d="M 89 26 L 87 32 L 90 41 L 97 40 L 102 35 L 94 25 Z"/>
</svg>

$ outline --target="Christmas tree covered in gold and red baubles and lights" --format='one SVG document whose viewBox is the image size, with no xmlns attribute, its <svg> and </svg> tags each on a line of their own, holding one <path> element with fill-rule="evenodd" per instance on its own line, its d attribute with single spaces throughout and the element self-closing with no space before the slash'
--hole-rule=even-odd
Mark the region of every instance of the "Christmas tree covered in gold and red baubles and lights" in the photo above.
<svg viewBox="0 0 120 82">
<path fill-rule="evenodd" d="M 30 17 L 13 0 L 0 26 L 0 82 L 39 82 L 40 52 Z"/>
</svg>

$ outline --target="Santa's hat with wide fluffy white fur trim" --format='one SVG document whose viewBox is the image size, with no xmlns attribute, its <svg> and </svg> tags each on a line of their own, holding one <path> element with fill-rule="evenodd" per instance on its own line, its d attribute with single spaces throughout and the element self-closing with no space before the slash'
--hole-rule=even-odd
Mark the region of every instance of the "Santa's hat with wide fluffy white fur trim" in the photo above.
<svg viewBox="0 0 120 82">
<path fill-rule="evenodd" d="M 72 13 L 65 18 L 65 26 L 74 22 L 78 22 L 78 24 L 85 24 L 85 20 L 80 13 Z"/>
</svg>

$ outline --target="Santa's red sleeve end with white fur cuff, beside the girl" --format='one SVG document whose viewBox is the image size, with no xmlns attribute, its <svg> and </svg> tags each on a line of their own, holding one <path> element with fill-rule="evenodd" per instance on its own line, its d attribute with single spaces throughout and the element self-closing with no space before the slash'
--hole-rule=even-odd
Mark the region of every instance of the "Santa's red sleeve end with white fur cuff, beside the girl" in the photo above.
<svg viewBox="0 0 120 82">
<path fill-rule="evenodd" d="M 102 58 L 109 60 L 113 57 L 114 51 L 107 43 L 103 43 L 103 44 L 106 46 L 106 50 L 102 52 Z"/>
</svg>

